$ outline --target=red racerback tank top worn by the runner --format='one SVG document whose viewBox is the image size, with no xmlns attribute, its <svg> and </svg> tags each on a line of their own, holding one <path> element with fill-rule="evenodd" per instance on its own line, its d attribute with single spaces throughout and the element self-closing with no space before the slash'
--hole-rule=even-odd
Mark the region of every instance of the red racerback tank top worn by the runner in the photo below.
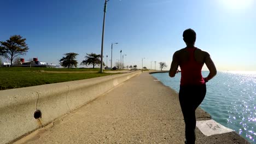
<svg viewBox="0 0 256 144">
<path fill-rule="evenodd" d="M 204 85 L 205 81 L 202 77 L 202 66 L 203 64 L 195 61 L 194 48 L 187 48 L 189 52 L 189 61 L 179 65 L 181 67 L 181 86 L 184 85 Z"/>
</svg>

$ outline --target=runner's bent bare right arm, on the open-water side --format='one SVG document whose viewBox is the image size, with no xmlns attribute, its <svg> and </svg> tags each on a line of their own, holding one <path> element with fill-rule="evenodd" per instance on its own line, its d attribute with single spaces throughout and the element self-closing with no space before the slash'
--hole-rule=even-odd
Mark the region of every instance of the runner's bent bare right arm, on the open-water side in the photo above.
<svg viewBox="0 0 256 144">
<path fill-rule="evenodd" d="M 207 82 L 208 80 L 211 80 L 212 77 L 214 77 L 217 74 L 216 67 L 215 67 L 209 53 L 207 53 L 207 52 L 206 52 L 206 57 L 205 57 L 205 64 L 210 71 L 210 74 L 207 77 L 205 77 L 206 82 Z"/>
</svg>

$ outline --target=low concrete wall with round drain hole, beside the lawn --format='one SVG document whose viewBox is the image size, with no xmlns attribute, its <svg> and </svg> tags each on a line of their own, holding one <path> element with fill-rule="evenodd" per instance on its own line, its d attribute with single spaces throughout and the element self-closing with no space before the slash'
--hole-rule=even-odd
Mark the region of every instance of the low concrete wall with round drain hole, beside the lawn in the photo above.
<svg viewBox="0 0 256 144">
<path fill-rule="evenodd" d="M 0 143 L 12 142 L 43 127 L 140 73 L 0 91 Z M 36 110 L 42 112 L 39 119 L 34 118 Z"/>
</svg>

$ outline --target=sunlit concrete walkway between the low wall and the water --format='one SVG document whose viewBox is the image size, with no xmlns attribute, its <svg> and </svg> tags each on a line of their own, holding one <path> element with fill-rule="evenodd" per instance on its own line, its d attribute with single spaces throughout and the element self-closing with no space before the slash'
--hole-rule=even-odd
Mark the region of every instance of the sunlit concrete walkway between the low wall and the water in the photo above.
<svg viewBox="0 0 256 144">
<path fill-rule="evenodd" d="M 210 119 L 198 109 L 197 120 Z M 236 133 L 204 136 L 197 143 L 247 143 Z M 80 109 L 15 143 L 184 143 L 178 95 L 142 73 Z"/>
</svg>

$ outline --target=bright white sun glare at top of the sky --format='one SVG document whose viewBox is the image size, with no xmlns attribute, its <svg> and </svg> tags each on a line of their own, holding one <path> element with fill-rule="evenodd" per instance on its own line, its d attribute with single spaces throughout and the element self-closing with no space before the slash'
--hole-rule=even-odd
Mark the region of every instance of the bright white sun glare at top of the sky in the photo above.
<svg viewBox="0 0 256 144">
<path fill-rule="evenodd" d="M 223 7 L 233 10 L 248 9 L 254 3 L 254 0 L 218 0 Z"/>
</svg>

